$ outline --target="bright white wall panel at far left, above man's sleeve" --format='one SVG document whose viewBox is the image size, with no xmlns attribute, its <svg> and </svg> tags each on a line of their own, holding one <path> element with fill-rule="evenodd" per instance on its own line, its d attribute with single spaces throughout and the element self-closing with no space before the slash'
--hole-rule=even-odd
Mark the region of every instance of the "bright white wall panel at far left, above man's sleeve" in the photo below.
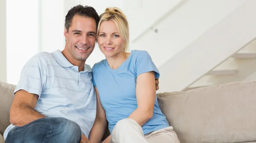
<svg viewBox="0 0 256 143">
<path fill-rule="evenodd" d="M 7 0 L 7 82 L 17 84 L 24 64 L 38 53 L 38 0 Z"/>
</svg>

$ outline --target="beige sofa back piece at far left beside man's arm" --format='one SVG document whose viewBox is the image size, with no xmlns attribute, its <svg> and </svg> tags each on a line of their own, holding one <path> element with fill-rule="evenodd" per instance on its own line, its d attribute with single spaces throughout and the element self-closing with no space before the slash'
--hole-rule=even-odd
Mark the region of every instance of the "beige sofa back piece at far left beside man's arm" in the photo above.
<svg viewBox="0 0 256 143">
<path fill-rule="evenodd" d="M 13 99 L 15 85 L 0 81 L 0 134 L 9 126 L 9 112 Z"/>
</svg>

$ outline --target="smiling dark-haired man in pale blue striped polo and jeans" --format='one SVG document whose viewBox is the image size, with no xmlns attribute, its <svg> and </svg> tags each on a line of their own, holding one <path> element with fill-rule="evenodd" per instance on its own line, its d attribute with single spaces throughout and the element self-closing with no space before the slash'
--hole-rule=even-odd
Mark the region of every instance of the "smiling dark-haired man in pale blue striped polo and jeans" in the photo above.
<svg viewBox="0 0 256 143">
<path fill-rule="evenodd" d="M 96 95 L 85 61 L 94 49 L 98 23 L 94 8 L 71 8 L 64 50 L 38 53 L 25 64 L 14 91 L 11 125 L 4 132 L 6 143 L 90 143 Z"/>
</svg>

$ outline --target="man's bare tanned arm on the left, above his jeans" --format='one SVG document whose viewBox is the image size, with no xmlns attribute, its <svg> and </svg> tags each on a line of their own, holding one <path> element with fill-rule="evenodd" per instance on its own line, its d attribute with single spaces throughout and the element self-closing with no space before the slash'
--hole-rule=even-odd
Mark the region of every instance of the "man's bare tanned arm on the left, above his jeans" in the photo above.
<svg viewBox="0 0 256 143">
<path fill-rule="evenodd" d="M 15 93 L 10 109 L 10 122 L 15 126 L 24 126 L 32 121 L 46 117 L 34 108 L 38 95 L 19 90 Z"/>
</svg>

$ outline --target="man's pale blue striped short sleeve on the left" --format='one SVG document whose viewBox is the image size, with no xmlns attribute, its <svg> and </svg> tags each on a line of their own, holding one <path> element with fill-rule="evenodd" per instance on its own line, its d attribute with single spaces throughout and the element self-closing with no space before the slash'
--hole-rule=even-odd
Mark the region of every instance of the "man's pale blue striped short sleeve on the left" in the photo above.
<svg viewBox="0 0 256 143">
<path fill-rule="evenodd" d="M 40 56 L 36 55 L 26 62 L 20 73 L 20 80 L 14 90 L 14 95 L 19 90 L 26 90 L 28 93 L 37 94 L 38 99 L 45 87 L 47 80 L 47 65 Z"/>
</svg>

